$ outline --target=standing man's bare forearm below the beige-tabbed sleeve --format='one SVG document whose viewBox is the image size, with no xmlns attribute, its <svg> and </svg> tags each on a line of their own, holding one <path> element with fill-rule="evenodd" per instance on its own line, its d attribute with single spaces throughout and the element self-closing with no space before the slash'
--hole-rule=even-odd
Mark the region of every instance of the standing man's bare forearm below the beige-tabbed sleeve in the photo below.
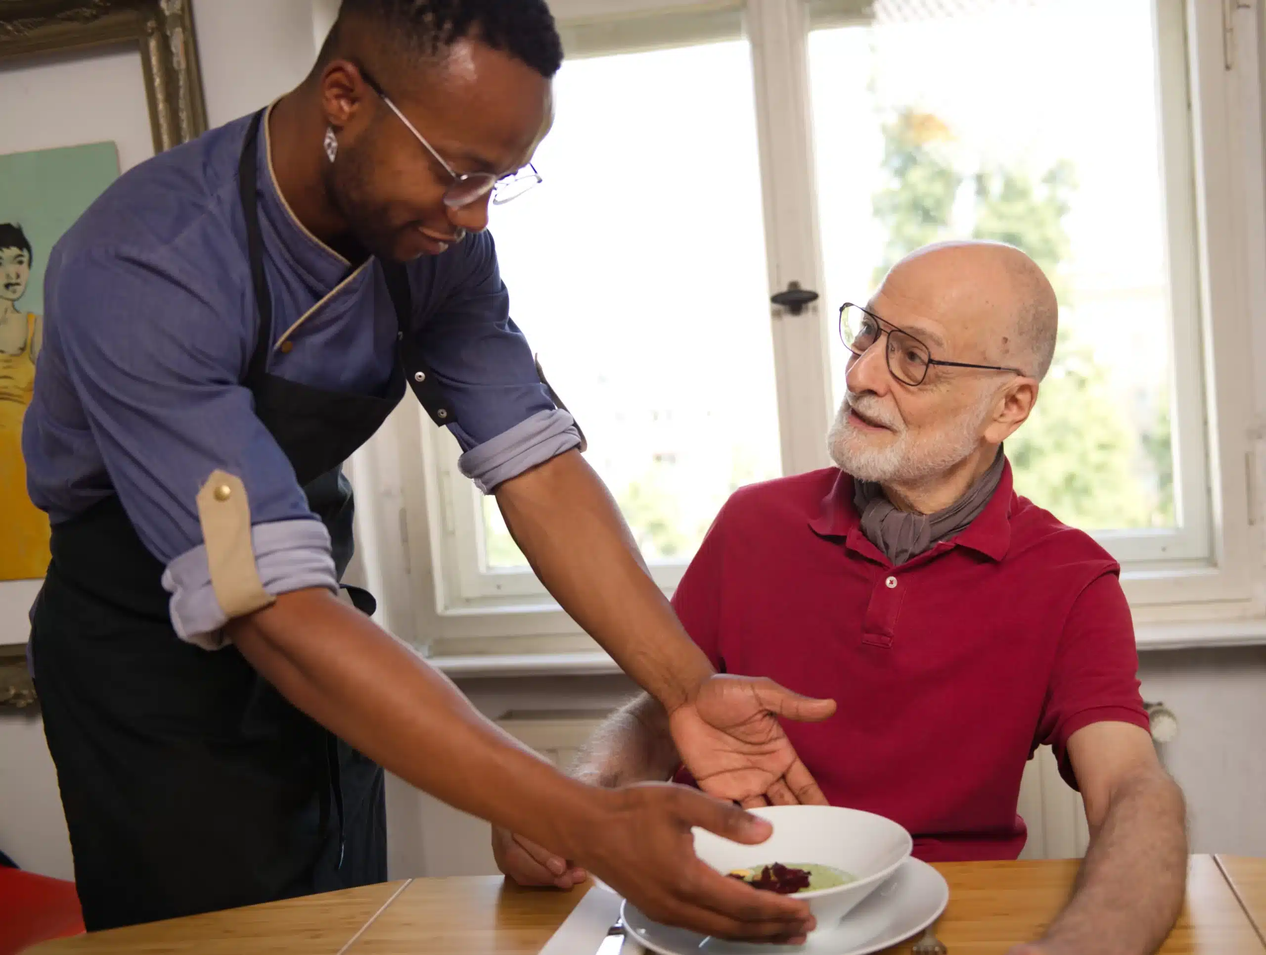
<svg viewBox="0 0 1266 955">
<path fill-rule="evenodd" d="M 299 709 L 432 795 L 533 840 L 573 849 L 568 817 L 592 790 L 485 719 L 449 680 L 324 590 L 234 621 L 243 656 Z"/>
</svg>

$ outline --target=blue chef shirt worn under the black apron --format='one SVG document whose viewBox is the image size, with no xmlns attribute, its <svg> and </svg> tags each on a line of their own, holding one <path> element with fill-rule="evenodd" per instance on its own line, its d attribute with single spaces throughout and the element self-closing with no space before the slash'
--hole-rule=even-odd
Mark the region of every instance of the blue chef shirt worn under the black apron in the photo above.
<svg viewBox="0 0 1266 955">
<path fill-rule="evenodd" d="M 53 248 L 23 431 L 32 500 L 56 524 L 118 494 L 166 565 L 177 635 L 208 647 L 219 645 L 225 616 L 196 495 L 215 470 L 246 485 L 268 593 L 337 588 L 329 536 L 242 385 L 258 329 L 237 177 L 248 122 L 137 166 Z M 276 187 L 267 136 L 258 161 L 273 309 L 267 370 L 381 394 L 400 331 L 381 267 L 352 270 L 300 224 Z M 470 236 L 408 274 L 405 334 L 457 419 L 448 428 L 463 474 L 486 491 L 576 447 L 571 415 L 551 400 L 510 319 L 492 237 Z"/>
</svg>

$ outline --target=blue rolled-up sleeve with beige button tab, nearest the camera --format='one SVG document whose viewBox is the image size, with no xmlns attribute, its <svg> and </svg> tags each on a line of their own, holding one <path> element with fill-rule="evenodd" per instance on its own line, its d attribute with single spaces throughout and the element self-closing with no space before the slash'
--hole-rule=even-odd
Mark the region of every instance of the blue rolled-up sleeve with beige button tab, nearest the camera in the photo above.
<svg viewBox="0 0 1266 955">
<path fill-rule="evenodd" d="M 337 589 L 329 534 L 241 384 L 256 324 L 242 290 L 163 250 L 49 265 L 46 348 L 61 356 L 137 534 L 166 565 L 176 633 L 214 648 L 228 621 L 197 505 L 215 472 L 242 481 L 267 594 Z"/>
</svg>

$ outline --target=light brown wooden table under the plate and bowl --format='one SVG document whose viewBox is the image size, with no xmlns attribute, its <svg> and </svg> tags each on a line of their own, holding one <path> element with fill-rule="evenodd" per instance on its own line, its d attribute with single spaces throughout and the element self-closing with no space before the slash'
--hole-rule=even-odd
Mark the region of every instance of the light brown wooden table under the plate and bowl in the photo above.
<svg viewBox="0 0 1266 955">
<path fill-rule="evenodd" d="M 937 935 L 951 955 L 1003 955 L 1058 912 L 1076 861 L 951 863 Z M 413 879 L 328 895 L 65 939 L 39 955 L 536 955 L 581 890 L 519 889 L 499 878 Z M 1266 955 L 1266 860 L 1194 856 L 1163 955 Z M 890 950 L 908 955 L 910 945 Z"/>
</svg>

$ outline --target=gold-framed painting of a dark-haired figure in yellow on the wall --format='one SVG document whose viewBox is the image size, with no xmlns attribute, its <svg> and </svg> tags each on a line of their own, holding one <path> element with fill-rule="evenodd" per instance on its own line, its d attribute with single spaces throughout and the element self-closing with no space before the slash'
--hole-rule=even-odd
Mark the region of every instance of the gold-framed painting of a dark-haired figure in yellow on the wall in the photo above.
<svg viewBox="0 0 1266 955">
<path fill-rule="evenodd" d="M 0 0 L 0 708 L 15 708 L 35 699 L 25 617 L 48 565 L 20 450 L 43 270 L 120 171 L 205 132 L 191 0 Z"/>
</svg>

